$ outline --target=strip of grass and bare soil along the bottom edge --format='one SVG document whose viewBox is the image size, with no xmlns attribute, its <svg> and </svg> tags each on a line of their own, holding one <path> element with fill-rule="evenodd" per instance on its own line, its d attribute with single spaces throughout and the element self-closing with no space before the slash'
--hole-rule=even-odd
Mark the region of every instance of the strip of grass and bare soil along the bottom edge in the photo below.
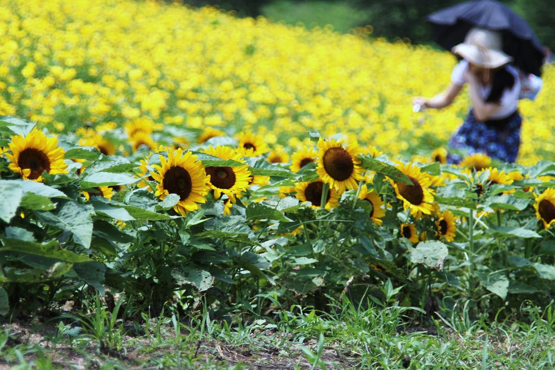
<svg viewBox="0 0 555 370">
<path fill-rule="evenodd" d="M 273 297 L 264 297 L 274 301 Z M 96 301 L 89 325 L 57 318 L 41 325 L 11 323 L 0 330 L 0 367 L 98 368 L 553 368 L 555 310 L 528 307 L 526 322 L 471 320 L 462 307 L 415 320 L 421 310 L 394 299 L 378 307 L 332 301 L 327 312 L 276 308 L 268 317 L 117 320 Z M 408 320 L 408 316 L 412 319 Z M 420 313 L 422 316 L 423 313 Z M 75 316 L 74 316 L 75 317 Z M 80 329 L 79 329 L 80 328 Z M 120 338 L 107 348 L 110 338 Z M 104 343 L 104 344 L 102 344 Z"/>
</svg>

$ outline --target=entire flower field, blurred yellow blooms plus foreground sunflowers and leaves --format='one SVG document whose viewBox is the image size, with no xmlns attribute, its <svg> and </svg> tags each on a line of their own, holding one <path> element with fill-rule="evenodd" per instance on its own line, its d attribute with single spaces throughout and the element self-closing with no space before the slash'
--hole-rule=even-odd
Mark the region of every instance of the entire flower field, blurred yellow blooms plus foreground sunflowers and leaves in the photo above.
<svg viewBox="0 0 555 370">
<path fill-rule="evenodd" d="M 447 52 L 127 0 L 0 4 L 0 315 L 555 294 L 555 68 L 516 164 L 446 164 Z M 384 298 L 385 297 L 385 298 Z M 76 306 L 76 307 L 77 307 Z"/>
</svg>

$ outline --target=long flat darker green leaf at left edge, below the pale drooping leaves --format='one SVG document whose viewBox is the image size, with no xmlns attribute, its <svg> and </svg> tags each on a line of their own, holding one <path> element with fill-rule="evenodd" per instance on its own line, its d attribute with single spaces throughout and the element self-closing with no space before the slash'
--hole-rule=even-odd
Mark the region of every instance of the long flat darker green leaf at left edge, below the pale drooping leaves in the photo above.
<svg viewBox="0 0 555 370">
<path fill-rule="evenodd" d="M 90 261 L 89 257 L 87 256 L 78 255 L 75 252 L 61 249 L 57 240 L 51 240 L 47 243 L 37 243 L 19 239 L 8 239 L 5 237 L 0 237 L 0 240 L 2 240 L 3 245 L 3 247 L 0 248 L 0 252 L 11 251 L 28 253 L 71 263 Z"/>
</svg>

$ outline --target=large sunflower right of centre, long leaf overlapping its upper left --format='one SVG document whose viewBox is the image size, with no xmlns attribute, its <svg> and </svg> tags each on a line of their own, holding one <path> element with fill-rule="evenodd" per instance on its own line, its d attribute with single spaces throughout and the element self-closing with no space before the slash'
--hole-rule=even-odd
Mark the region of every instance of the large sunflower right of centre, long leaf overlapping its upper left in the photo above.
<svg viewBox="0 0 555 370">
<path fill-rule="evenodd" d="M 411 180 L 412 185 L 396 183 L 392 181 L 397 198 L 403 201 L 403 208 L 410 209 L 413 216 L 420 215 L 420 212 L 427 215 L 433 212 L 433 195 L 428 189 L 432 184 L 432 179 L 420 168 L 412 163 L 400 165 L 399 170 Z"/>
</svg>

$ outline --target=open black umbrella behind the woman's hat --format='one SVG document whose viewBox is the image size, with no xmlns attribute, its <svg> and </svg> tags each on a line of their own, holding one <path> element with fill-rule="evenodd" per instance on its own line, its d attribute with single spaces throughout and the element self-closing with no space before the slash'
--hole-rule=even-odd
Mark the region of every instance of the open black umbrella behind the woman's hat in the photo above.
<svg viewBox="0 0 555 370">
<path fill-rule="evenodd" d="M 537 76 L 542 73 L 542 43 L 528 23 L 502 3 L 468 1 L 434 12 L 427 21 L 434 26 L 435 41 L 447 50 L 463 42 L 472 27 L 502 31 L 503 51 L 513 57 L 514 65 Z"/>
</svg>

